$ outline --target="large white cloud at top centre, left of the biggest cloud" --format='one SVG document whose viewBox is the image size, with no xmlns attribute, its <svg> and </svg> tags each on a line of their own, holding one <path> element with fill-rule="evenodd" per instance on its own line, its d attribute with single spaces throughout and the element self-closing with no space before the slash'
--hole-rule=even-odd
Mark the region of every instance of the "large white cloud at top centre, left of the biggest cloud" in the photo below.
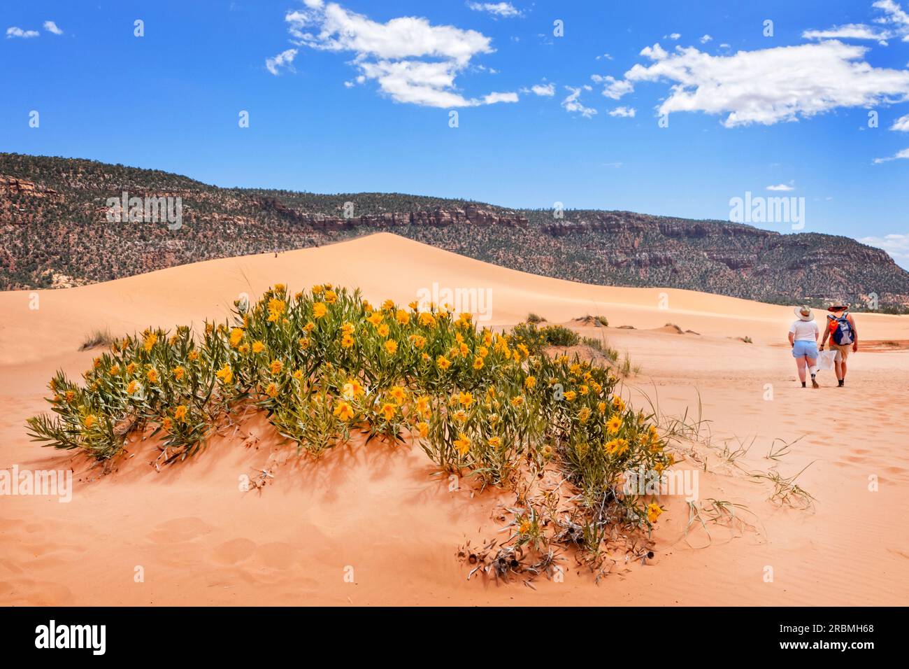
<svg viewBox="0 0 909 669">
<path fill-rule="evenodd" d="M 516 93 L 464 97 L 454 79 L 474 56 L 494 52 L 492 40 L 475 30 L 432 25 L 425 18 L 401 16 L 378 23 L 337 3 L 304 0 L 306 9 L 285 15 L 297 46 L 350 52 L 360 76 L 378 83 L 395 102 L 454 107 L 515 102 Z"/>
</svg>

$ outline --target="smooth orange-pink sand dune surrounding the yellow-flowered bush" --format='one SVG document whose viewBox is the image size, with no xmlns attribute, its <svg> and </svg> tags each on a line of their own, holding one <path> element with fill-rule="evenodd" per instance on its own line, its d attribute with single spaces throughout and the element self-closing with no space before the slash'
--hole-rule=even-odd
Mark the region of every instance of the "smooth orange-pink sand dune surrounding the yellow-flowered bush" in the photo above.
<svg viewBox="0 0 909 669">
<path fill-rule="evenodd" d="M 418 449 L 355 443 L 301 460 L 255 418 L 160 472 L 148 464 L 150 442 L 137 439 L 118 470 L 101 476 L 27 440 L 25 418 L 45 411 L 54 370 L 77 376 L 90 364 L 95 352 L 77 349 L 91 329 L 221 319 L 240 293 L 278 281 L 293 289 L 332 281 L 400 302 L 434 284 L 489 289 L 499 326 L 528 311 L 569 325 L 605 316 L 611 327 L 580 331 L 604 336 L 640 366 L 624 388 L 635 406 L 647 409 L 646 396 L 666 416 L 690 417 L 700 405 L 709 423 L 677 467 L 700 471 L 702 506 L 740 504 L 736 520 L 689 523 L 684 499 L 664 497 L 653 564 L 616 554 L 614 572 L 596 585 L 569 556 L 564 583 L 539 580 L 534 591 L 465 580 L 457 548 L 495 536 L 496 505 L 507 496 L 449 492 Z M 897 604 L 909 596 L 909 521 L 898 511 L 909 492 L 909 350 L 860 351 L 844 389 L 822 372 L 822 389 L 803 390 L 784 346 L 789 308 L 547 279 L 388 234 L 37 295 L 29 309 L 28 292 L 0 293 L 0 467 L 74 467 L 77 481 L 70 503 L 0 498 L 3 603 Z M 907 317 L 858 319 L 866 340 L 909 340 Z M 765 457 L 774 440 L 793 443 L 780 461 Z M 768 501 L 773 484 L 748 476 L 788 477 L 806 465 L 797 482 L 816 498 L 812 510 Z M 264 490 L 239 491 L 240 476 L 264 469 L 275 476 Z"/>
</svg>

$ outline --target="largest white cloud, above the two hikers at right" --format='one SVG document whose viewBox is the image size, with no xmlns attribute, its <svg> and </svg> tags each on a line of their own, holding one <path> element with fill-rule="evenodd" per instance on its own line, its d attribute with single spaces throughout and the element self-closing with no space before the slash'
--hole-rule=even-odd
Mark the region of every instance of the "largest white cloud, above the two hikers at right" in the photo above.
<svg viewBox="0 0 909 669">
<path fill-rule="evenodd" d="M 677 46 L 668 55 L 657 44 L 641 52 L 654 61 L 652 65 L 633 66 L 608 90 L 617 99 L 638 82 L 666 82 L 671 87 L 659 106 L 661 116 L 684 111 L 726 114 L 725 127 L 769 126 L 837 107 L 909 99 L 909 71 L 873 67 L 863 59 L 866 51 L 864 46 L 834 40 L 731 56 Z"/>
</svg>

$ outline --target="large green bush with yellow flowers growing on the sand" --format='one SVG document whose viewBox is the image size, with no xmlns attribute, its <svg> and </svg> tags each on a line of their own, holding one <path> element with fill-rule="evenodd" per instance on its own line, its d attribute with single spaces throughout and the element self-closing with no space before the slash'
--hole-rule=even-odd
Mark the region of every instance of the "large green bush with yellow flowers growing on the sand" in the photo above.
<svg viewBox="0 0 909 669">
<path fill-rule="evenodd" d="M 439 471 L 483 485 L 517 490 L 558 470 L 579 492 L 591 551 L 607 522 L 649 529 L 659 507 L 622 494 L 620 483 L 625 471 L 671 464 L 664 441 L 614 395 L 610 370 L 528 347 L 528 333 L 478 329 L 470 314 L 445 308 L 373 306 L 327 284 L 295 295 L 277 285 L 197 334 L 146 329 L 116 340 L 81 384 L 58 372 L 55 415 L 28 425 L 36 441 L 103 461 L 151 425 L 175 461 L 252 405 L 316 455 L 364 431 L 367 441 L 411 437 Z"/>
</svg>

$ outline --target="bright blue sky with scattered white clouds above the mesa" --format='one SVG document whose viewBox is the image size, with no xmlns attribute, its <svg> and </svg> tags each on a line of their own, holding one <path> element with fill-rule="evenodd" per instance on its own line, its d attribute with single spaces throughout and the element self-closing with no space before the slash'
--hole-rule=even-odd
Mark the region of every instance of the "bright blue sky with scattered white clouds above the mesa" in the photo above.
<svg viewBox="0 0 909 669">
<path fill-rule="evenodd" d="M 4 0 L 0 150 L 218 186 L 688 218 L 728 218 L 751 191 L 805 198 L 804 231 L 909 267 L 907 12 L 907 0 Z"/>
</svg>

